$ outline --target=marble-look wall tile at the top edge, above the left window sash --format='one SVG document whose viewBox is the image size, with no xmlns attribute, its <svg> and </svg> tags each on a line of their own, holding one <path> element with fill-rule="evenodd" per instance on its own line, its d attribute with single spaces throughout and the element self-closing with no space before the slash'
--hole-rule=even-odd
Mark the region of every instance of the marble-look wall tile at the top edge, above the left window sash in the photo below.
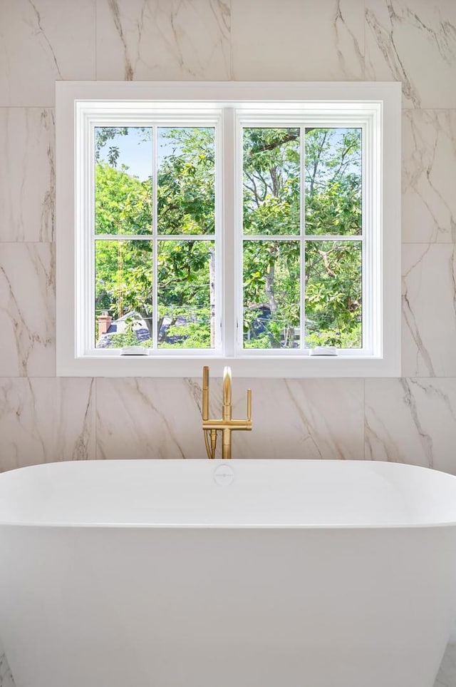
<svg viewBox="0 0 456 687">
<path fill-rule="evenodd" d="M 229 0 L 97 0 L 97 78 L 231 76 Z"/>
</svg>

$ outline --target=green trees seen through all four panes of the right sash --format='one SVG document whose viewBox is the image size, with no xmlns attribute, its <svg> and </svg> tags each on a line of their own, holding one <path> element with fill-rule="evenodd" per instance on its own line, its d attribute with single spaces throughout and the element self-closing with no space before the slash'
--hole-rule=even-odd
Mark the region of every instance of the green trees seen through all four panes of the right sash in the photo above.
<svg viewBox="0 0 456 687">
<path fill-rule="evenodd" d="M 308 129 L 304 145 L 306 235 L 361 234 L 360 131 Z M 295 347 L 299 338 L 299 244 L 254 239 L 299 233 L 299 156 L 297 129 L 244 132 L 245 347 Z M 361 346 L 359 248 L 306 240 L 306 346 Z"/>
</svg>

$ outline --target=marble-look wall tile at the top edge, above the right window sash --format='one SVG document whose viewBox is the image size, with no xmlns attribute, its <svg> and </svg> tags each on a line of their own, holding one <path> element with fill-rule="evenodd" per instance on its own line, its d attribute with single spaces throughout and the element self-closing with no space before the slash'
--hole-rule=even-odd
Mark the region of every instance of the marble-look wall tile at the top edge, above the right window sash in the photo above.
<svg viewBox="0 0 456 687">
<path fill-rule="evenodd" d="M 232 0 L 237 81 L 353 81 L 364 75 L 358 0 Z M 278 6 L 280 6 L 278 13 Z"/>
</svg>

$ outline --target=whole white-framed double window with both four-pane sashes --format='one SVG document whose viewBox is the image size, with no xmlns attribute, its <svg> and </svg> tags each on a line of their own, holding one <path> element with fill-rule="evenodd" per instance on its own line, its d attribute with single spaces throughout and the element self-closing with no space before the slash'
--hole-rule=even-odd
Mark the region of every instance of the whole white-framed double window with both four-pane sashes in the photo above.
<svg viewBox="0 0 456 687">
<path fill-rule="evenodd" d="M 56 86 L 58 374 L 400 375 L 399 84 Z"/>
</svg>

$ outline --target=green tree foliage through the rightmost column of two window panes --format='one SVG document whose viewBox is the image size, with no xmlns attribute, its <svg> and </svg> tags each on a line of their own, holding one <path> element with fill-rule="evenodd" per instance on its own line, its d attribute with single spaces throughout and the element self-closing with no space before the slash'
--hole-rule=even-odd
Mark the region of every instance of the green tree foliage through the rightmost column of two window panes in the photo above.
<svg viewBox="0 0 456 687">
<path fill-rule="evenodd" d="M 361 235 L 361 131 L 306 131 L 306 234 Z M 361 242 L 306 242 L 306 345 L 358 348 Z"/>
</svg>

